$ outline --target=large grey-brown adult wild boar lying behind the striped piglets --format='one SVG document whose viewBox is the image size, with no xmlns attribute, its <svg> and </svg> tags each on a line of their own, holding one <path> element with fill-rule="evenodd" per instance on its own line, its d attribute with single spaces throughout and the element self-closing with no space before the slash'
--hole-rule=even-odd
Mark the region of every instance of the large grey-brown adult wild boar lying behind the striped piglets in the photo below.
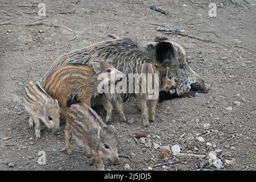
<svg viewBox="0 0 256 182">
<path fill-rule="evenodd" d="M 91 60 L 101 59 L 112 64 L 119 71 L 137 73 L 143 63 L 160 64 L 170 68 L 176 79 L 176 89 L 171 94 L 183 97 L 191 90 L 206 92 L 205 84 L 185 60 L 185 51 L 179 44 L 164 37 L 156 37 L 155 42 L 141 45 L 129 38 L 118 38 L 94 43 L 57 57 L 49 71 L 42 78 L 42 84 L 53 69 L 68 63 L 87 64 Z"/>
</svg>

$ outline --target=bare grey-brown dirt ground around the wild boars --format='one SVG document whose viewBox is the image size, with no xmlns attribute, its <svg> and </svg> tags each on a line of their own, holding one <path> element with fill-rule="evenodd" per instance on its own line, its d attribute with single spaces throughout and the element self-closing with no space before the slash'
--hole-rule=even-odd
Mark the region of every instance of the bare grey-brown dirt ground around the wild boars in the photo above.
<svg viewBox="0 0 256 182">
<path fill-rule="evenodd" d="M 38 16 L 41 2 L 46 4 L 46 17 Z M 111 39 L 109 33 L 141 43 L 164 35 L 150 23 L 181 28 L 185 34 L 211 41 L 166 35 L 185 48 L 189 65 L 211 85 L 210 92 L 160 103 L 156 122 L 147 129 L 142 127 L 134 103 L 125 104 L 130 123 L 119 122 L 117 113 L 112 121 L 118 130 L 121 164 L 106 164 L 106 169 L 123 170 L 125 164 L 135 170 L 217 169 L 207 164 L 206 157 L 174 156 L 170 152 L 161 159 L 162 150 L 155 149 L 155 143 L 170 147 L 179 144 L 182 153 L 206 156 L 220 149 L 220 170 L 255 170 L 256 1 L 210 1 L 217 5 L 217 17 L 213 18 L 208 14 L 210 2 L 205 2 L 1 0 L 0 170 L 97 169 L 89 166 L 88 155 L 75 142 L 73 156 L 60 152 L 64 123 L 59 135 L 43 126 L 42 138 L 35 139 L 22 105 L 24 86 L 30 80 L 39 80 L 58 55 Z M 153 4 L 168 14 L 151 10 Z M 36 23 L 39 21 L 47 23 Z M 141 139 L 139 144 L 135 142 L 133 135 L 138 131 L 149 134 L 146 143 L 150 140 L 150 145 L 141 143 Z M 46 165 L 38 164 L 39 151 L 46 152 Z M 169 161 L 176 163 L 153 167 Z"/>
</svg>

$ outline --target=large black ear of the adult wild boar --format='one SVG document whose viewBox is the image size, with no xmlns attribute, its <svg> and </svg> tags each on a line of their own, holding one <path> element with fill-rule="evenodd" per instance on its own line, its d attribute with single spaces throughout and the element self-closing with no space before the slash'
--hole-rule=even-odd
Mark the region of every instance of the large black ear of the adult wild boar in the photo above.
<svg viewBox="0 0 256 182">
<path fill-rule="evenodd" d="M 155 46 L 155 55 L 160 64 L 168 63 L 174 57 L 174 46 L 171 42 L 160 41 Z"/>
</svg>

